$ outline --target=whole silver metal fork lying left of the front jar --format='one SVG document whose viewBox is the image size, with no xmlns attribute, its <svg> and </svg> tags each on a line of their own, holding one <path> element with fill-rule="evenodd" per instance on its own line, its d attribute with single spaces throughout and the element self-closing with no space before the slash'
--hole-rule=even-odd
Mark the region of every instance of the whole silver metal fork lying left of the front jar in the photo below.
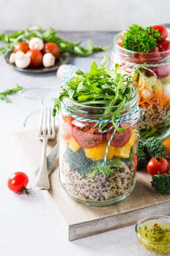
<svg viewBox="0 0 170 256">
<path fill-rule="evenodd" d="M 55 121 L 51 108 L 42 110 L 42 118 L 39 128 L 39 139 L 42 140 L 42 161 L 39 168 L 39 175 L 36 178 L 36 189 L 50 189 L 50 182 L 47 173 L 47 141 L 55 139 Z"/>
</svg>

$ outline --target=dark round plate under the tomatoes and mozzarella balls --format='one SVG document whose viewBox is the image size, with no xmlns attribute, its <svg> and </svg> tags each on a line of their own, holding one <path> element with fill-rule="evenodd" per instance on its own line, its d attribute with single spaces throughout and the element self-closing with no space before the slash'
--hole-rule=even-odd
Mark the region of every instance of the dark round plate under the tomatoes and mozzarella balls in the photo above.
<svg viewBox="0 0 170 256">
<path fill-rule="evenodd" d="M 15 64 L 11 64 L 9 62 L 9 56 L 11 55 L 12 50 L 9 51 L 5 56 L 4 59 L 6 60 L 7 64 L 9 64 L 11 67 L 18 71 L 22 72 L 31 72 L 31 73 L 45 73 L 45 72 L 51 72 L 55 71 L 60 67 L 62 64 L 67 64 L 69 63 L 71 59 L 71 54 L 70 53 L 61 53 L 61 56 L 59 59 L 55 61 L 55 65 L 53 67 L 38 67 L 36 69 L 31 69 L 31 67 L 27 67 L 26 69 L 20 69 L 19 67 L 16 67 Z"/>
</svg>

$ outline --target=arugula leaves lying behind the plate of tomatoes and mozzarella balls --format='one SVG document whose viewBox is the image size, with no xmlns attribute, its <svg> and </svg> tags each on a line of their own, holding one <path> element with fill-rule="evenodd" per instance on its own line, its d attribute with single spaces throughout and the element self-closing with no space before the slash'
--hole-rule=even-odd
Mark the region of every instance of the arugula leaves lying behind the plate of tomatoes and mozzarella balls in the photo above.
<svg viewBox="0 0 170 256">
<path fill-rule="evenodd" d="M 31 37 L 39 37 L 44 42 L 55 42 L 60 48 L 61 53 L 70 52 L 77 56 L 89 56 L 94 52 L 108 49 L 108 47 L 93 45 L 90 39 L 88 39 L 86 47 L 82 47 L 80 41 L 70 42 L 58 37 L 55 29 L 44 30 L 36 26 L 30 26 L 27 29 L 16 31 L 12 34 L 0 34 L 0 40 L 7 43 L 7 47 L 0 48 L 0 53 L 7 53 L 7 51 L 12 50 L 18 42 L 28 42 Z"/>
</svg>

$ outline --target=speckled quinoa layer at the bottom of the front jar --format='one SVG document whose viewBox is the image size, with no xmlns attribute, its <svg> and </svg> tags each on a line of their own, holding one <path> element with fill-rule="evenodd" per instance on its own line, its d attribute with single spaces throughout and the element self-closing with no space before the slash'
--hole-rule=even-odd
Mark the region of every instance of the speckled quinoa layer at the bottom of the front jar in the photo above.
<svg viewBox="0 0 170 256">
<path fill-rule="evenodd" d="M 69 167 L 67 162 L 61 165 L 61 182 L 69 195 L 80 200 L 107 201 L 128 195 L 134 187 L 135 171 L 133 165 L 124 164 L 112 176 L 100 173 L 94 178 L 82 177 L 80 172 Z"/>
</svg>

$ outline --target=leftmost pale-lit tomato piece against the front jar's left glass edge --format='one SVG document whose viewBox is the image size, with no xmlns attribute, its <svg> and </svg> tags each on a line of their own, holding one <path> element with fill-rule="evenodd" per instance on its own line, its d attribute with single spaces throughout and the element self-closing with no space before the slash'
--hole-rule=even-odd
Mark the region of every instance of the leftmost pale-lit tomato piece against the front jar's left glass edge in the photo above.
<svg viewBox="0 0 170 256">
<path fill-rule="evenodd" d="M 69 140 L 72 137 L 72 116 L 61 116 L 61 136 L 64 140 Z"/>
</svg>

